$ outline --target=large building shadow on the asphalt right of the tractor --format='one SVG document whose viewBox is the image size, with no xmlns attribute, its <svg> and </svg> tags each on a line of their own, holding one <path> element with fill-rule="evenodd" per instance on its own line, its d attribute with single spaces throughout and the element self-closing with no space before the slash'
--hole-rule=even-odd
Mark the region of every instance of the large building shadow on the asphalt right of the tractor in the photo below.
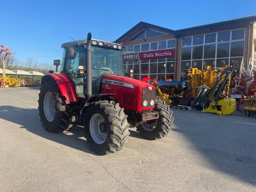
<svg viewBox="0 0 256 192">
<path fill-rule="evenodd" d="M 256 185 L 255 118 L 179 110 L 174 111 L 174 116 L 172 131 L 185 136 L 192 150 L 209 162 L 200 162 L 203 166 Z"/>
</svg>

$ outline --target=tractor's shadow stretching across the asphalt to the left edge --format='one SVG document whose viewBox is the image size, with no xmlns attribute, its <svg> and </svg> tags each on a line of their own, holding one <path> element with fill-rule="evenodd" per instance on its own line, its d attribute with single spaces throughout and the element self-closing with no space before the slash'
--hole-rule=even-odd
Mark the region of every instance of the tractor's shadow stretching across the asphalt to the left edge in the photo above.
<svg viewBox="0 0 256 192">
<path fill-rule="evenodd" d="M 13 106 L 0 106 L 0 118 L 6 121 L 20 125 L 20 128 L 34 133 L 45 139 L 61 143 L 68 147 L 84 151 L 85 153 L 94 154 L 84 137 L 84 130 L 81 127 L 71 127 L 71 129 L 64 133 L 49 133 L 44 130 L 41 122 L 39 122 L 37 109 L 24 109 Z"/>
</svg>

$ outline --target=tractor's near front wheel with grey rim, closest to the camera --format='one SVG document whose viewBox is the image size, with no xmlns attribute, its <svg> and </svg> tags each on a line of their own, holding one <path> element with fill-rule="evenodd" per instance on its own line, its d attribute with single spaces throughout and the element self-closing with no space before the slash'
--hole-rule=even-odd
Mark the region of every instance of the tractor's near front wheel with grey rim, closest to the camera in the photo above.
<svg viewBox="0 0 256 192">
<path fill-rule="evenodd" d="M 129 123 L 119 103 L 93 102 L 86 109 L 83 120 L 85 138 L 96 154 L 114 153 L 127 143 Z"/>
</svg>

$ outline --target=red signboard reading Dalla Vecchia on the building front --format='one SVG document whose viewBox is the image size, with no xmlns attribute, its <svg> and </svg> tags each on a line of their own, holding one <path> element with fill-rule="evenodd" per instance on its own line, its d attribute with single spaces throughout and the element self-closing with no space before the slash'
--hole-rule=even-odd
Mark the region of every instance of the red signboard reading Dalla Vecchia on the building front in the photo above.
<svg viewBox="0 0 256 192">
<path fill-rule="evenodd" d="M 140 60 L 159 59 L 159 58 L 174 58 L 175 49 L 166 49 L 158 51 L 147 51 L 140 53 Z"/>
</svg>

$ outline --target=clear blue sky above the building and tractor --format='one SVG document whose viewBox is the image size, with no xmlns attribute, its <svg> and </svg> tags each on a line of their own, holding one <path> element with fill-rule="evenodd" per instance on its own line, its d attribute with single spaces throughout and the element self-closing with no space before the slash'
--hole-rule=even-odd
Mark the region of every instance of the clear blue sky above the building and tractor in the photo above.
<svg viewBox="0 0 256 192">
<path fill-rule="evenodd" d="M 86 3 L 87 2 L 87 3 Z M 0 44 L 20 61 L 34 57 L 52 63 L 62 57 L 61 43 L 94 38 L 114 41 L 140 21 L 170 29 L 194 27 L 256 14 L 247 1 L 2 1 Z"/>
</svg>

